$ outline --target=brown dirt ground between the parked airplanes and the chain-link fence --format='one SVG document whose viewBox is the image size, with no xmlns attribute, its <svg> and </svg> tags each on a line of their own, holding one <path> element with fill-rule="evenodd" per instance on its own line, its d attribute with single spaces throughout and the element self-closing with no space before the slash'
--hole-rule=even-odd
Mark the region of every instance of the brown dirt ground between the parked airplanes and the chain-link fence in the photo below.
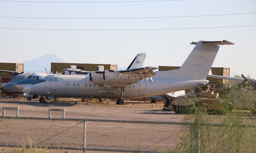
<svg viewBox="0 0 256 153">
<path fill-rule="evenodd" d="M 77 102 L 77 104 L 75 103 Z M 115 101 L 105 101 L 99 104 L 89 100 L 80 102 L 79 99 L 61 99 L 39 103 L 38 99 L 27 101 L 23 98 L 0 99 L 0 113 L 2 107 L 18 107 L 19 117 L 49 117 L 49 109 L 65 109 L 65 118 L 85 118 L 97 120 L 125 120 L 125 121 L 158 121 L 158 122 L 183 122 L 185 114 L 175 114 L 172 111 L 164 111 L 163 102 L 150 103 L 150 101 L 126 101 L 125 105 L 116 105 Z M 6 110 L 5 116 L 15 116 L 14 110 Z M 52 117 L 60 118 L 61 112 L 52 112 Z M 177 131 L 173 131 L 178 132 Z M 0 152 L 24 152 L 22 148 L 0 148 Z M 56 150 L 55 150 L 56 151 Z M 26 151 L 25 151 L 26 152 Z M 76 150 L 60 152 L 77 152 Z M 79 151 L 78 151 L 79 152 Z M 86 151 L 95 152 L 95 151 Z M 97 152 L 97 151 L 96 151 Z"/>
</svg>

